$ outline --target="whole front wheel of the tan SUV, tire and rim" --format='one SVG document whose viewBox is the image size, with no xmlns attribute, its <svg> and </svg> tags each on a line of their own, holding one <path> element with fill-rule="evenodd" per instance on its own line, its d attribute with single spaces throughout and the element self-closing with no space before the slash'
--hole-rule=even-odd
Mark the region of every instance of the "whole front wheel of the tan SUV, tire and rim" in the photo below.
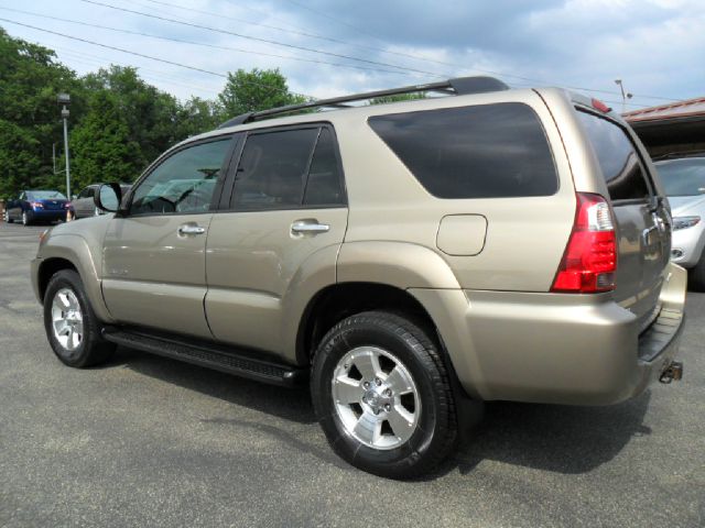
<svg viewBox="0 0 705 528">
<path fill-rule="evenodd" d="M 57 272 L 46 287 L 44 329 L 56 356 L 76 369 L 104 363 L 116 349 L 100 337 L 98 318 L 73 270 Z"/>
</svg>

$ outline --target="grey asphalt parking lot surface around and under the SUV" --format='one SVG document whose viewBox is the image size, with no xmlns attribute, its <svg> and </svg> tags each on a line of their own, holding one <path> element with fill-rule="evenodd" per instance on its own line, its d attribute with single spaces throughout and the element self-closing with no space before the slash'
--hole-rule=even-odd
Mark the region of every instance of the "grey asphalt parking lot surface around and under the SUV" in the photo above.
<svg viewBox="0 0 705 528">
<path fill-rule="evenodd" d="M 615 407 L 495 403 L 427 480 L 359 472 L 306 391 L 120 349 L 63 366 L 29 261 L 0 223 L 0 526 L 705 526 L 705 295 L 685 377 Z"/>
</svg>

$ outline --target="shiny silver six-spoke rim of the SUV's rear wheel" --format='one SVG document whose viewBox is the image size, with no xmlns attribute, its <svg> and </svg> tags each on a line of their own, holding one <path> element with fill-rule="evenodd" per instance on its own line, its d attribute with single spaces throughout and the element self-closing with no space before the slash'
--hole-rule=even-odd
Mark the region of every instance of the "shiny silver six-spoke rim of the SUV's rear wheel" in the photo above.
<svg viewBox="0 0 705 528">
<path fill-rule="evenodd" d="M 373 449 L 394 449 L 419 427 L 421 398 L 406 366 L 377 346 L 345 354 L 333 374 L 333 404 L 345 432 Z"/>
</svg>

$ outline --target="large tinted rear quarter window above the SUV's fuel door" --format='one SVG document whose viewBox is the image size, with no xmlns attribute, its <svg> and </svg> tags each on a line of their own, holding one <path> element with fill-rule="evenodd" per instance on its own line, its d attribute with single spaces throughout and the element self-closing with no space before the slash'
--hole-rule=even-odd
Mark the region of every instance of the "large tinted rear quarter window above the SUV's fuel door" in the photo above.
<svg viewBox="0 0 705 528">
<path fill-rule="evenodd" d="M 527 105 L 378 116 L 369 124 L 437 198 L 549 196 L 558 188 L 543 128 Z"/>
</svg>

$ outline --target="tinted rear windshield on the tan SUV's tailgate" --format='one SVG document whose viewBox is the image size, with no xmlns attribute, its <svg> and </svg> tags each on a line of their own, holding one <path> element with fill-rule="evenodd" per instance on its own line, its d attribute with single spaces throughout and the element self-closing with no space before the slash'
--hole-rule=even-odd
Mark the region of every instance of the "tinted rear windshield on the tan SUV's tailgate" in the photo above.
<svg viewBox="0 0 705 528">
<path fill-rule="evenodd" d="M 593 145 L 612 200 L 642 200 L 649 197 L 647 175 L 626 132 L 593 113 L 578 111 L 581 123 Z"/>
</svg>

